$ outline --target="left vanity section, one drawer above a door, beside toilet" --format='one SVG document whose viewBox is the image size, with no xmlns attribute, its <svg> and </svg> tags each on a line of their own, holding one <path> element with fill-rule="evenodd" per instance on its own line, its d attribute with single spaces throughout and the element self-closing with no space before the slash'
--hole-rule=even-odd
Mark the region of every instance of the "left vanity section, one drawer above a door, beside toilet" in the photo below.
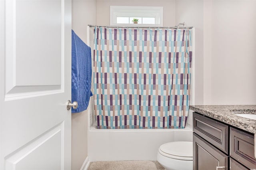
<svg viewBox="0 0 256 170">
<path fill-rule="evenodd" d="M 193 169 L 228 170 L 228 125 L 193 114 Z"/>
</svg>

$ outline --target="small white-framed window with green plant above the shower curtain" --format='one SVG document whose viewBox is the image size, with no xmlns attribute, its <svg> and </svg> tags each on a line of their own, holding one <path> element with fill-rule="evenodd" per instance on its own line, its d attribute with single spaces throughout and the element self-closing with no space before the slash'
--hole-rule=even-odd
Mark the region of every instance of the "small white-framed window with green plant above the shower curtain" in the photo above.
<svg viewBox="0 0 256 170">
<path fill-rule="evenodd" d="M 163 7 L 155 6 L 110 6 L 111 26 L 163 26 Z"/>
</svg>

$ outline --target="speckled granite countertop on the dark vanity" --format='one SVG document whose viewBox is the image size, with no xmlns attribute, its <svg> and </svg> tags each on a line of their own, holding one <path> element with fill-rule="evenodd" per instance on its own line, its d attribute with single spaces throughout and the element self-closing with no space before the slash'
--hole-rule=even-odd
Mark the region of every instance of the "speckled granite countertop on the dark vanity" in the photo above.
<svg viewBox="0 0 256 170">
<path fill-rule="evenodd" d="M 235 115 L 256 114 L 256 105 L 195 105 L 190 106 L 189 109 L 256 134 L 256 120 Z"/>
</svg>

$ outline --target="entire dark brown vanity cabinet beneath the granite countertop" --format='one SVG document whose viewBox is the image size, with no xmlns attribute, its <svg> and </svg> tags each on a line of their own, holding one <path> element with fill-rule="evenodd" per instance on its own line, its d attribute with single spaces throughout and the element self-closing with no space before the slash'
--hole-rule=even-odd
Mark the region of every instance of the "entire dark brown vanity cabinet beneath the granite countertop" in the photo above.
<svg viewBox="0 0 256 170">
<path fill-rule="evenodd" d="M 194 112 L 194 170 L 256 169 L 254 136 Z"/>
</svg>

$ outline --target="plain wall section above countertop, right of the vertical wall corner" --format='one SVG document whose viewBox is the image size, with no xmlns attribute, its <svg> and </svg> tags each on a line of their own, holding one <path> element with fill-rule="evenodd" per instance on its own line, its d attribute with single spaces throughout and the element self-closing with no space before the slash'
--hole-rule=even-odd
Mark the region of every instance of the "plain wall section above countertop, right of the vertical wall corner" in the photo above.
<svg viewBox="0 0 256 170">
<path fill-rule="evenodd" d="M 255 9 L 255 0 L 212 0 L 210 104 L 256 104 Z"/>
</svg>

